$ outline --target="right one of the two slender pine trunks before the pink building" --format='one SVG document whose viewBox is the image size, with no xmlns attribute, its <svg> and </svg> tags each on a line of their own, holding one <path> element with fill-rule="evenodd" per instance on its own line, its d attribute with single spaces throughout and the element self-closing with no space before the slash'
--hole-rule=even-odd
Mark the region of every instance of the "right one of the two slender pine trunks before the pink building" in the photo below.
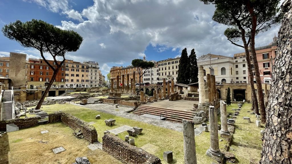
<svg viewBox="0 0 292 164">
<path fill-rule="evenodd" d="M 260 80 L 260 69 L 258 67 L 258 60 L 256 58 L 256 49 L 255 49 L 257 17 L 254 14 L 254 12 L 253 12 L 254 9 L 252 6 L 250 6 L 249 1 L 247 2 L 246 6 L 247 6 L 249 14 L 251 15 L 251 18 L 252 18 L 250 48 L 251 48 L 251 58 L 253 60 L 254 71 L 256 74 L 256 86 L 257 86 L 257 90 L 258 90 L 258 103 L 259 103 L 259 107 L 260 107 L 259 110 L 260 110 L 260 115 L 261 115 L 260 122 L 265 124 L 266 120 L 267 120 L 266 110 L 265 110 L 265 102 L 264 102 L 262 81 Z M 251 77 L 253 77 L 253 76 L 251 76 Z"/>
</svg>

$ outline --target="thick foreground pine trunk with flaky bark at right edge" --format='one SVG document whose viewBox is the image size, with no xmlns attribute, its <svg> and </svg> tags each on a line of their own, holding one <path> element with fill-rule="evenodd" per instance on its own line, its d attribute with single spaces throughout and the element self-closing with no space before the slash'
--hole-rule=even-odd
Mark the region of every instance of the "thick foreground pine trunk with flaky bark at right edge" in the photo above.
<svg viewBox="0 0 292 164">
<path fill-rule="evenodd" d="M 267 105 L 261 164 L 292 163 L 292 0 L 284 12 Z"/>
</svg>

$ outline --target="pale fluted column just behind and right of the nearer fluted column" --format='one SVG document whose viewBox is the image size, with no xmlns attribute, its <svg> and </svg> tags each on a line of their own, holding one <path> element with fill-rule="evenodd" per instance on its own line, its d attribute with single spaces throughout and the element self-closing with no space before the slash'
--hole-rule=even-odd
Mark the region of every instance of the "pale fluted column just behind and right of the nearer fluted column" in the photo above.
<svg viewBox="0 0 292 164">
<path fill-rule="evenodd" d="M 230 132 L 227 128 L 227 112 L 226 112 L 226 103 L 220 101 L 220 112 L 221 112 L 221 130 L 220 137 L 230 138 Z"/>
</svg>

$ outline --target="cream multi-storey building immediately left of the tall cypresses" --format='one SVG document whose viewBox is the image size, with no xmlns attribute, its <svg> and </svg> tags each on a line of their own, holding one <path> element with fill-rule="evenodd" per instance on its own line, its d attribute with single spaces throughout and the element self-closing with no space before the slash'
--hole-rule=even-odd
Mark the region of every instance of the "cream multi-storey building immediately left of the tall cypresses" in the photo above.
<svg viewBox="0 0 292 164">
<path fill-rule="evenodd" d="M 165 78 L 166 81 L 171 81 L 173 79 L 174 83 L 177 83 L 178 78 L 178 64 L 180 63 L 180 57 L 168 58 L 167 60 L 158 61 L 158 73 L 156 69 L 156 75 L 159 76 L 158 82 L 163 82 Z"/>
</svg>

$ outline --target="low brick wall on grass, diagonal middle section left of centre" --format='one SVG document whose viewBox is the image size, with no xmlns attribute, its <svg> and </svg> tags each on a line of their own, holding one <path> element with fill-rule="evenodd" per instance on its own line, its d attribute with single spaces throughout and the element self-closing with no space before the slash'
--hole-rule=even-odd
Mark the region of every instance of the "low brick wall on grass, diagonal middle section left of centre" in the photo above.
<svg viewBox="0 0 292 164">
<path fill-rule="evenodd" d="M 62 114 L 61 121 L 73 130 L 80 129 L 84 138 L 89 142 L 93 143 L 97 141 L 97 132 L 93 125 L 90 125 L 71 114 Z"/>
</svg>

